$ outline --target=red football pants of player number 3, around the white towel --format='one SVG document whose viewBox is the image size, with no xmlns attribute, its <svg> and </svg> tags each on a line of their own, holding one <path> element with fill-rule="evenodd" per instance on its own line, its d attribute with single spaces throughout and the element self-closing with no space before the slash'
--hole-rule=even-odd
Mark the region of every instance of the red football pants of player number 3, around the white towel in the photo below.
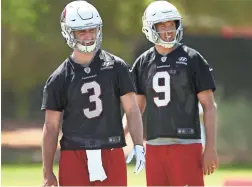
<svg viewBox="0 0 252 187">
<path fill-rule="evenodd" d="M 89 181 L 87 156 L 84 150 L 63 150 L 59 160 L 60 186 L 127 186 L 127 168 L 122 148 L 101 151 L 107 179 Z"/>
</svg>

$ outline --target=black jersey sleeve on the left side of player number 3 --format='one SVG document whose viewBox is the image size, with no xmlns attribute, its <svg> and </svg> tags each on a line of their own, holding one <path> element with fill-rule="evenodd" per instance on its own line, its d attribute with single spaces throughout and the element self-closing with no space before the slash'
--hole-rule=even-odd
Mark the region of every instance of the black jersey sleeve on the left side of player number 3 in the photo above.
<svg viewBox="0 0 252 187">
<path fill-rule="evenodd" d="M 62 112 L 64 109 L 64 79 L 60 75 L 51 75 L 47 80 L 42 98 L 41 110 Z"/>
</svg>

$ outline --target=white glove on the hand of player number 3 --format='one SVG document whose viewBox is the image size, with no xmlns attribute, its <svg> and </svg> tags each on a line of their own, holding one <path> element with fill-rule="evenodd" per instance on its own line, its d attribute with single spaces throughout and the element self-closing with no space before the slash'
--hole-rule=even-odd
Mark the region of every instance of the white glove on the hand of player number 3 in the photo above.
<svg viewBox="0 0 252 187">
<path fill-rule="evenodd" d="M 134 173 L 137 174 L 145 168 L 145 151 L 142 145 L 135 145 L 131 153 L 128 155 L 126 163 L 130 163 L 133 157 L 136 157 L 136 166 Z"/>
</svg>

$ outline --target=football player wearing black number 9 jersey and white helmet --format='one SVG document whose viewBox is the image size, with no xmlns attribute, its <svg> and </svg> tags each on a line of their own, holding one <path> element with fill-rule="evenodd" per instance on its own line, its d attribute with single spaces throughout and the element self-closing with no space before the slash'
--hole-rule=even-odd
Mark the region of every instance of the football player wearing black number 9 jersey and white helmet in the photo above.
<svg viewBox="0 0 252 187">
<path fill-rule="evenodd" d="M 143 15 L 142 31 L 155 46 L 132 66 L 137 102 L 147 112 L 148 186 L 203 186 L 218 165 L 212 68 L 196 50 L 179 43 L 181 15 L 167 1 L 155 1 Z M 198 102 L 204 110 L 202 154 Z"/>
</svg>

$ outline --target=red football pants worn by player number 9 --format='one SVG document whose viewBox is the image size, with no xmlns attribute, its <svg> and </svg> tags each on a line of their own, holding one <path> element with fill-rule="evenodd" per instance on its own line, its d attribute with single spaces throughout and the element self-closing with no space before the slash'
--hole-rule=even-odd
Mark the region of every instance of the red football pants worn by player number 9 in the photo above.
<svg viewBox="0 0 252 187">
<path fill-rule="evenodd" d="M 204 186 L 202 145 L 146 145 L 147 186 Z"/>
</svg>

